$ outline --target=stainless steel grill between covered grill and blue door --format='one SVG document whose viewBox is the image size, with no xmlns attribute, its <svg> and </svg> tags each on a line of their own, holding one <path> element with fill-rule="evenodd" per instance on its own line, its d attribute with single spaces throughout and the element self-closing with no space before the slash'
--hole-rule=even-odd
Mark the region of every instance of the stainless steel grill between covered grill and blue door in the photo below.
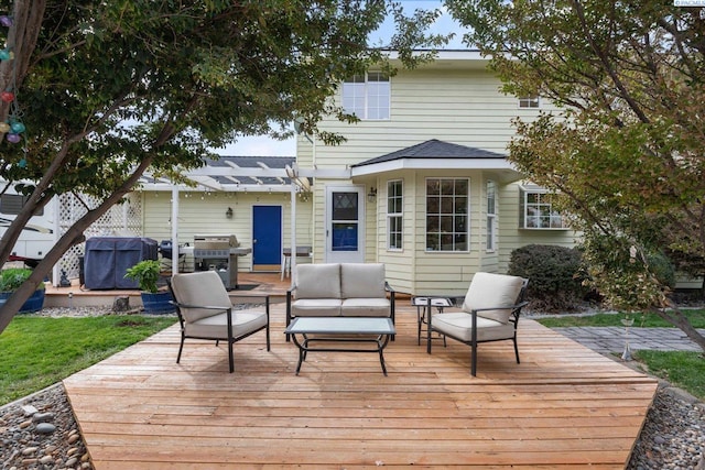
<svg viewBox="0 0 705 470">
<path fill-rule="evenodd" d="M 251 252 L 234 234 L 194 236 L 196 270 L 216 271 L 227 289 L 238 288 L 238 258 Z"/>
</svg>

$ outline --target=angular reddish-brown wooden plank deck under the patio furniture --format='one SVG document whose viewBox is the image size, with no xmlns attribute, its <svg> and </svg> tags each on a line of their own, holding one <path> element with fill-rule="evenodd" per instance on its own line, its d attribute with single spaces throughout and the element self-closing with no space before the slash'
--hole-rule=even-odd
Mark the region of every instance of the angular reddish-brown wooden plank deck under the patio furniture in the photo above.
<svg viewBox="0 0 705 470">
<path fill-rule="evenodd" d="M 177 326 L 64 381 L 91 460 L 104 469 L 513 468 L 621 469 L 657 382 L 532 320 L 510 341 L 416 346 L 415 310 L 398 303 L 399 335 L 377 354 L 311 353 L 187 340 Z"/>
</svg>

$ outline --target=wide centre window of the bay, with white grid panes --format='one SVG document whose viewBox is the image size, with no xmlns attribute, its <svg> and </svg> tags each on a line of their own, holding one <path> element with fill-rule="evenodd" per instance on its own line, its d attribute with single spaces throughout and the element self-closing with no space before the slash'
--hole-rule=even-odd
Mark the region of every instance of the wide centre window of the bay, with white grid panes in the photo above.
<svg viewBox="0 0 705 470">
<path fill-rule="evenodd" d="M 467 178 L 426 179 L 426 251 L 469 250 Z"/>
</svg>

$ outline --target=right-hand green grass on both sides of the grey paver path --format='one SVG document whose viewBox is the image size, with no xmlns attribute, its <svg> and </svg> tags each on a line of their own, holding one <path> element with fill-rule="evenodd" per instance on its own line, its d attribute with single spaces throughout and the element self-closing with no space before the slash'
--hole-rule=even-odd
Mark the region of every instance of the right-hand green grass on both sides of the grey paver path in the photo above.
<svg viewBox="0 0 705 470">
<path fill-rule="evenodd" d="M 695 328 L 705 328 L 705 309 L 685 310 Z M 598 314 L 585 317 L 565 316 L 543 318 L 538 321 L 549 328 L 558 327 L 623 327 L 623 314 Z M 657 315 L 636 315 L 634 327 L 673 327 Z M 684 340 L 685 341 L 685 340 Z M 644 371 L 669 381 L 687 391 L 691 395 L 705 400 L 705 354 L 691 351 L 632 351 Z"/>
</svg>

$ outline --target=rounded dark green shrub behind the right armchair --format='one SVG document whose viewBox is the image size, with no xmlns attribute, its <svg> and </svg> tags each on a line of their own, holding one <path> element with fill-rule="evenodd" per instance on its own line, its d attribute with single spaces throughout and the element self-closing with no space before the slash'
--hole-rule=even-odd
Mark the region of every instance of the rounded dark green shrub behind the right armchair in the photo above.
<svg viewBox="0 0 705 470">
<path fill-rule="evenodd" d="M 527 298 L 532 309 L 570 311 L 578 308 L 587 293 L 581 263 L 577 249 L 529 244 L 511 252 L 509 274 L 529 278 Z"/>
</svg>

